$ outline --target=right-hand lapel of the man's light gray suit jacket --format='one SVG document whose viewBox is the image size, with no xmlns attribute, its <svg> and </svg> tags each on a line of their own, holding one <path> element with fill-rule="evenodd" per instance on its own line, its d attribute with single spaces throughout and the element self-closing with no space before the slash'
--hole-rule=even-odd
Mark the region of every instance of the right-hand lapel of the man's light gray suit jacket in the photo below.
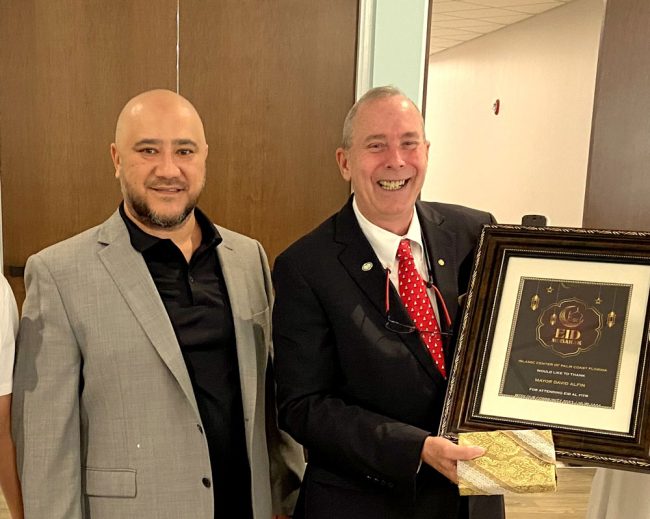
<svg viewBox="0 0 650 519">
<path fill-rule="evenodd" d="M 235 342 L 237 346 L 237 362 L 239 365 L 239 378 L 242 392 L 242 405 L 245 417 L 255 416 L 257 399 L 258 366 L 255 333 L 252 326 L 250 297 L 246 283 L 246 269 L 242 258 L 234 249 L 231 240 L 227 239 L 225 232 L 219 229 L 223 241 L 217 247 L 217 255 L 221 264 L 221 271 L 228 290 L 228 298 L 232 310 L 235 326 Z M 270 309 L 269 309 L 270 310 Z M 253 428 L 250 422 L 244 422 L 246 431 L 246 444 L 248 452 L 253 452 Z"/>
</svg>

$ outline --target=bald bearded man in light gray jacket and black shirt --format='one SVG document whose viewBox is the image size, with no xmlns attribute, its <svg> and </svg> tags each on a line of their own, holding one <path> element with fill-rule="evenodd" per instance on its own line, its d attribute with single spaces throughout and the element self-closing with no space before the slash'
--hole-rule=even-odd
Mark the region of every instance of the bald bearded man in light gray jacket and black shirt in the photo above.
<svg viewBox="0 0 650 519">
<path fill-rule="evenodd" d="M 26 517 L 293 511 L 304 463 L 276 425 L 269 268 L 195 207 L 207 152 L 186 99 L 136 96 L 111 145 L 119 210 L 27 262 L 13 405 Z"/>
</svg>

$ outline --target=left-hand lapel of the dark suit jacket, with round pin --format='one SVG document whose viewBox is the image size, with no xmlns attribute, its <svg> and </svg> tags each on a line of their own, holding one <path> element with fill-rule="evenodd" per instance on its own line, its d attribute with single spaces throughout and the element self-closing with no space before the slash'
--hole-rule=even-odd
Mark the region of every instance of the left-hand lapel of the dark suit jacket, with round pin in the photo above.
<svg viewBox="0 0 650 519">
<path fill-rule="evenodd" d="M 352 198 L 337 215 L 335 240 L 344 245 L 339 255 L 343 268 L 380 313 L 382 320 L 385 320 L 386 272 L 359 227 L 354 209 L 352 209 Z M 370 270 L 362 268 L 368 263 L 373 265 Z M 389 298 L 391 319 L 400 323 L 410 322 L 402 300 L 392 284 L 390 285 Z M 429 376 L 436 383 L 444 384 L 442 375 L 435 369 L 431 356 L 417 333 L 398 334 L 389 330 L 386 330 L 386 333 L 397 335 Z"/>
</svg>

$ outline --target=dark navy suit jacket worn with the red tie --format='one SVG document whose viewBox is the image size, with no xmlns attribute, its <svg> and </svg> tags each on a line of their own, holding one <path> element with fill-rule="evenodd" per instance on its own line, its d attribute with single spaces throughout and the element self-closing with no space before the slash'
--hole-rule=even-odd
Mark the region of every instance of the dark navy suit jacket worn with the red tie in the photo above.
<svg viewBox="0 0 650 519">
<path fill-rule="evenodd" d="M 494 219 L 449 204 L 416 208 L 455 321 L 481 228 Z M 455 485 L 426 465 L 418 470 L 424 439 L 438 431 L 446 381 L 417 333 L 386 329 L 386 274 L 352 198 L 277 258 L 273 280 L 280 426 L 309 457 L 296 516 L 467 516 Z M 390 308 L 392 319 L 410 322 L 392 285 Z M 447 366 L 452 355 L 453 340 Z M 477 517 L 501 517 L 500 498 L 481 499 Z"/>
</svg>

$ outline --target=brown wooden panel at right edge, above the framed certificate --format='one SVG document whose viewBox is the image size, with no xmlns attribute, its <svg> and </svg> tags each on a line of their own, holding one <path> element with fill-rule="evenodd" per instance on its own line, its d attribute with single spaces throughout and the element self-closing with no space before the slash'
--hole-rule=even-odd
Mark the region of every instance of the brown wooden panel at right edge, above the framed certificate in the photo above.
<svg viewBox="0 0 650 519">
<path fill-rule="evenodd" d="M 650 231 L 649 27 L 647 0 L 607 1 L 596 76 L 585 227 Z"/>
</svg>

